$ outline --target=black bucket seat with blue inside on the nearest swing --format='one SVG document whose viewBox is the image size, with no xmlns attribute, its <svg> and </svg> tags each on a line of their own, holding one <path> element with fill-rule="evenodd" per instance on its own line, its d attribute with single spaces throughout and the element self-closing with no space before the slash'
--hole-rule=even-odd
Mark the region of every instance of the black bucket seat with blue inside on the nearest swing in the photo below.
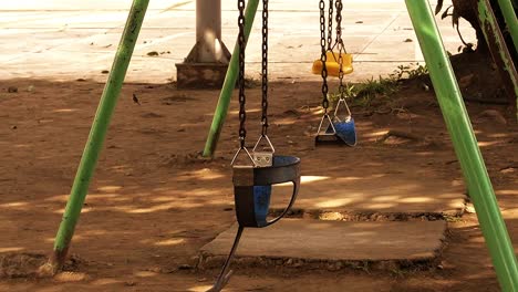
<svg viewBox="0 0 518 292">
<path fill-rule="evenodd" d="M 274 155 L 269 167 L 235 166 L 232 181 L 239 225 L 252 228 L 270 226 L 284 217 L 296 201 L 300 188 L 300 158 Z M 271 186 L 283 182 L 293 184 L 290 202 L 279 217 L 268 221 Z"/>
</svg>

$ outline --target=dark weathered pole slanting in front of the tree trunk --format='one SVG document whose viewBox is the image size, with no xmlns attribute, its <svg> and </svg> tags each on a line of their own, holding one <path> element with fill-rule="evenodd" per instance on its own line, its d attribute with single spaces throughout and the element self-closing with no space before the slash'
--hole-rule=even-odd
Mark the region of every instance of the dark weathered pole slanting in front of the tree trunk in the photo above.
<svg viewBox="0 0 518 292">
<path fill-rule="evenodd" d="M 480 28 L 484 32 L 484 38 L 486 39 L 487 46 L 491 53 L 493 61 L 497 66 L 507 95 L 509 96 L 509 103 L 517 105 L 518 73 L 516 72 L 516 65 L 512 62 L 512 56 L 509 53 L 506 40 L 498 27 L 498 21 L 493 11 L 491 3 L 489 0 L 478 0 L 477 8 L 478 22 L 480 23 Z"/>
</svg>

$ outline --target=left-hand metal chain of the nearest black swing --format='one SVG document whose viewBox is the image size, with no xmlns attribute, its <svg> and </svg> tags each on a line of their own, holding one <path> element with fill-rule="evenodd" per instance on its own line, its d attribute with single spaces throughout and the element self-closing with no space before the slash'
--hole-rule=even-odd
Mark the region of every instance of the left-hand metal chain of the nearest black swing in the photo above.
<svg viewBox="0 0 518 292">
<path fill-rule="evenodd" d="M 239 142 L 241 149 L 245 148 L 245 139 L 247 137 L 247 129 L 245 123 L 247 121 L 247 112 L 245 108 L 245 0 L 238 0 L 238 45 L 239 45 Z"/>
</svg>

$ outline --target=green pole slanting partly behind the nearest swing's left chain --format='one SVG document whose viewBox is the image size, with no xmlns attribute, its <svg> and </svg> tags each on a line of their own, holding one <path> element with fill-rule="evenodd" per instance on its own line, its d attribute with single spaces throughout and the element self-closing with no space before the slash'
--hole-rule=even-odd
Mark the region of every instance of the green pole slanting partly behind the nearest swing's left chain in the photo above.
<svg viewBox="0 0 518 292">
<path fill-rule="evenodd" d="M 259 0 L 249 0 L 245 10 L 245 42 L 248 42 L 248 38 L 251 32 L 258 6 Z M 236 41 L 236 45 L 234 46 L 234 53 L 230 59 L 230 64 L 228 65 L 227 75 L 225 76 L 225 82 L 221 92 L 219 93 L 218 105 L 216 106 L 216 111 L 214 113 L 213 124 L 210 125 L 207 142 L 205 143 L 204 157 L 213 157 L 214 153 L 216 152 L 219 135 L 221 134 L 221 129 L 225 124 L 225 118 L 227 117 L 228 107 L 230 105 L 230 98 L 232 97 L 232 92 L 236 87 L 239 65 L 238 62 L 239 45 Z"/>
</svg>

